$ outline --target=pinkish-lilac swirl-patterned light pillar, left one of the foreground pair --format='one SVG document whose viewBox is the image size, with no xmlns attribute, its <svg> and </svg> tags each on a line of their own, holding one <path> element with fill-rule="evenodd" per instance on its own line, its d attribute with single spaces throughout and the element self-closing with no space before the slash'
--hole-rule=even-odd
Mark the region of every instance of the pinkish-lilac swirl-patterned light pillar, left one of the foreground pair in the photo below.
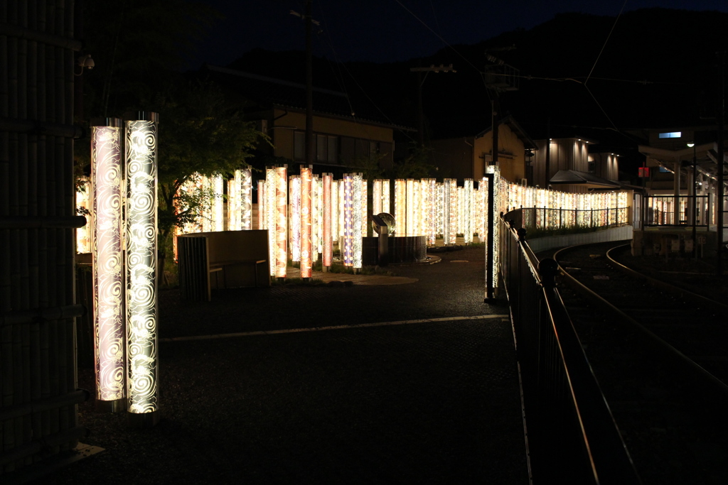
<svg viewBox="0 0 728 485">
<path fill-rule="evenodd" d="M 122 256 L 122 120 L 91 131 L 91 254 L 96 409 L 126 409 Z"/>
</svg>

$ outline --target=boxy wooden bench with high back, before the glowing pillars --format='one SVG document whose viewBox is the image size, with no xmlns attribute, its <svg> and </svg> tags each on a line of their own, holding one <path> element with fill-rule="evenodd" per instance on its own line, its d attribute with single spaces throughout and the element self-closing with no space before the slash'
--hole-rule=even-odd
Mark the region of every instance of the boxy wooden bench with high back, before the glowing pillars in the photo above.
<svg viewBox="0 0 728 485">
<path fill-rule="evenodd" d="M 185 300 L 210 301 L 212 289 L 270 286 L 268 231 L 183 234 L 177 244 Z"/>
</svg>

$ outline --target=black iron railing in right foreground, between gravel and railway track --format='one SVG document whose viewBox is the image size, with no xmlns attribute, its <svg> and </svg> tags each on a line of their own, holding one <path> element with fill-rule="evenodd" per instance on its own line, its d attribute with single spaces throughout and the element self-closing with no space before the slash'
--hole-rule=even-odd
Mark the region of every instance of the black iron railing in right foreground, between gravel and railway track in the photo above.
<svg viewBox="0 0 728 485">
<path fill-rule="evenodd" d="M 555 288 L 558 264 L 537 260 L 526 230 L 513 223 L 518 212 L 499 221 L 499 269 L 521 366 L 534 484 L 639 484 Z"/>
</svg>

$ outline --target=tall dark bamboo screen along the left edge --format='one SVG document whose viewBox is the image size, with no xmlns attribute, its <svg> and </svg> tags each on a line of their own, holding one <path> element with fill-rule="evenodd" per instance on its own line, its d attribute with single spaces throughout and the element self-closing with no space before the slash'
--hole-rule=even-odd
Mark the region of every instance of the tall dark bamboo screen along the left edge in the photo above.
<svg viewBox="0 0 728 485">
<path fill-rule="evenodd" d="M 0 481 L 72 449 L 73 0 L 0 1 Z"/>
</svg>

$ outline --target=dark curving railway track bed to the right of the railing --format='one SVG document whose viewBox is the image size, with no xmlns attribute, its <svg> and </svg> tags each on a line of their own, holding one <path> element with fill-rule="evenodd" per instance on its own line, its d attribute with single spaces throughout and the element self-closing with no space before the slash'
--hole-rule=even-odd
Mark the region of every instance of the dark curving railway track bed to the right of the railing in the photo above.
<svg viewBox="0 0 728 485">
<path fill-rule="evenodd" d="M 725 483 L 728 306 L 623 267 L 628 246 L 615 246 L 573 246 L 554 259 L 638 473 L 644 484 Z"/>
</svg>

